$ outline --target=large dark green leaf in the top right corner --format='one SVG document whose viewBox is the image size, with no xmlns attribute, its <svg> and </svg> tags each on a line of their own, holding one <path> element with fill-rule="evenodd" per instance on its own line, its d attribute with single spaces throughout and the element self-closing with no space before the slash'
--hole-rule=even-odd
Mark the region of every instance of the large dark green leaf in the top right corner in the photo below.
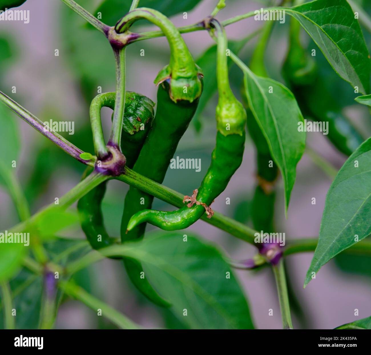
<svg viewBox="0 0 371 355">
<path fill-rule="evenodd" d="M 370 56 L 346 0 L 316 0 L 285 10 L 299 21 L 341 78 L 361 93 L 370 91 Z"/>
</svg>

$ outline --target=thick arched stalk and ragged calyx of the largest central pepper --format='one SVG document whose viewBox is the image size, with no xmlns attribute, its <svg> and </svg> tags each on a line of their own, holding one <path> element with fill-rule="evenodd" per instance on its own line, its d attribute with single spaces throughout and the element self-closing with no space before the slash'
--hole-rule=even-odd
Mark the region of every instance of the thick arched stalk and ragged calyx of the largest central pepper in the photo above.
<svg viewBox="0 0 371 355">
<path fill-rule="evenodd" d="M 181 34 L 174 24 L 159 11 L 142 7 L 129 12 L 115 26 L 117 33 L 124 33 L 139 19 L 147 19 L 160 27 L 170 46 L 170 63 L 158 73 L 156 85 L 169 80 L 171 100 L 193 102 L 202 93 L 202 72 L 196 65 Z"/>
</svg>

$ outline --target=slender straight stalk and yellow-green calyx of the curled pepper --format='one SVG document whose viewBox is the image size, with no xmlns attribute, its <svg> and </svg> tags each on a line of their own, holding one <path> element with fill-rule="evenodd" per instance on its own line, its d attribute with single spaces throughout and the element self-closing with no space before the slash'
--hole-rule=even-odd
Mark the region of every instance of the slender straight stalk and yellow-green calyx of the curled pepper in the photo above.
<svg viewBox="0 0 371 355">
<path fill-rule="evenodd" d="M 217 41 L 216 79 L 219 93 L 219 101 L 216 106 L 217 129 L 224 136 L 243 135 L 247 115 L 242 103 L 236 99 L 229 85 L 227 62 L 229 53 L 226 32 L 217 20 L 211 20 L 210 24 L 216 32 Z"/>
</svg>

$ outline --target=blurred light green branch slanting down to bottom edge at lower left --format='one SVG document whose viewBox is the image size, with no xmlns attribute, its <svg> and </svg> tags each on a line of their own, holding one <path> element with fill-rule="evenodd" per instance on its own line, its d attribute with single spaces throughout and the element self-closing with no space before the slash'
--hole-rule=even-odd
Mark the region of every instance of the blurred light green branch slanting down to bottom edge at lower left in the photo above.
<svg viewBox="0 0 371 355">
<path fill-rule="evenodd" d="M 58 286 L 70 297 L 78 299 L 85 303 L 86 306 L 93 310 L 101 309 L 102 315 L 109 319 L 112 323 L 121 329 L 140 329 L 141 326 L 135 324 L 131 319 L 127 318 L 116 309 L 107 305 L 105 302 L 95 298 L 94 296 L 87 293 L 84 289 L 69 281 L 59 281 Z"/>
</svg>

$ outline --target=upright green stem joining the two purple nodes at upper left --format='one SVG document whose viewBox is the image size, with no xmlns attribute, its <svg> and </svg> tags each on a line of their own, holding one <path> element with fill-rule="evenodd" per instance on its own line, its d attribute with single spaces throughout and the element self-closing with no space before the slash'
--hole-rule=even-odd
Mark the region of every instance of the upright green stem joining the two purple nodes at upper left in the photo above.
<svg viewBox="0 0 371 355">
<path fill-rule="evenodd" d="M 114 53 L 116 60 L 116 99 L 108 145 L 121 150 L 122 121 L 124 120 L 125 109 L 125 47 L 114 48 Z"/>
</svg>

